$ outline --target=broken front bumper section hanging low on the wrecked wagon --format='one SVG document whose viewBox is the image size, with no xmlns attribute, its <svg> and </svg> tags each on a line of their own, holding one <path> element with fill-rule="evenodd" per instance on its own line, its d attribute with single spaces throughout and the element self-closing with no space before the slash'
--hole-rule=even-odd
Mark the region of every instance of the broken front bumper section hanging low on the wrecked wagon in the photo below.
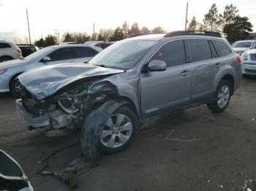
<svg viewBox="0 0 256 191">
<path fill-rule="evenodd" d="M 16 108 L 20 116 L 23 117 L 23 120 L 29 126 L 33 128 L 44 128 L 50 126 L 50 118 L 48 116 L 31 117 L 31 114 L 26 112 L 26 109 L 23 107 L 21 99 L 16 100 Z"/>
</svg>

